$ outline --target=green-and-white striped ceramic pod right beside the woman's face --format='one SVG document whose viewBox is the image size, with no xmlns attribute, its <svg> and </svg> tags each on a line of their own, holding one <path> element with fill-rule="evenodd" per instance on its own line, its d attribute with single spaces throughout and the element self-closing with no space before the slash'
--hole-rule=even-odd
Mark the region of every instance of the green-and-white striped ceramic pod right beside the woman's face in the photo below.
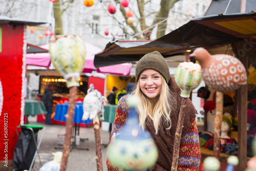
<svg viewBox="0 0 256 171">
<path fill-rule="evenodd" d="M 181 89 L 181 97 L 189 97 L 202 81 L 201 67 L 198 63 L 182 62 L 175 71 L 175 81 Z"/>
</svg>

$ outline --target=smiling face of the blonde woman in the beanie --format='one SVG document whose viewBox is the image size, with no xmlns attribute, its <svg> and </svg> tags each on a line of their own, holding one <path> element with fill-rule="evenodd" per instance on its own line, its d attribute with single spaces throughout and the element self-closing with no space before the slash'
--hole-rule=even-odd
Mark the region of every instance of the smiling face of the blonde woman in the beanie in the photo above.
<svg viewBox="0 0 256 171">
<path fill-rule="evenodd" d="M 160 94 L 162 81 L 161 74 L 156 70 L 144 70 L 139 77 L 140 90 L 155 103 Z"/>
</svg>

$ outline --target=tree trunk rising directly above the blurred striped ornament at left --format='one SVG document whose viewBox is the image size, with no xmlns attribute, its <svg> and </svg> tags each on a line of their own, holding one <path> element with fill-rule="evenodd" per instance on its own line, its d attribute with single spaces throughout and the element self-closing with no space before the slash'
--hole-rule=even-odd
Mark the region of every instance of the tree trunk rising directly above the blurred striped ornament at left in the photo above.
<svg viewBox="0 0 256 171">
<path fill-rule="evenodd" d="M 56 1 L 55 3 L 53 3 L 53 13 L 55 18 L 55 35 L 63 34 L 60 1 Z"/>
</svg>

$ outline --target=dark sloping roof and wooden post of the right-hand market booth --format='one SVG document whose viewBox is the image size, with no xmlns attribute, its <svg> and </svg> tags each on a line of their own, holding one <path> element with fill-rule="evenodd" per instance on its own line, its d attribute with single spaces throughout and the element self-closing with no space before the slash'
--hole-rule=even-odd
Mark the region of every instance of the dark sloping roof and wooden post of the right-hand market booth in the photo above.
<svg viewBox="0 0 256 171">
<path fill-rule="evenodd" d="M 243 3 L 242 5 L 244 8 L 241 9 L 245 10 Z M 232 51 L 246 69 L 249 68 L 248 63 L 256 67 L 255 23 L 256 13 L 253 11 L 192 18 L 187 24 L 154 41 L 109 42 L 103 52 L 95 55 L 94 65 L 103 67 L 111 63 L 135 62 L 152 51 L 159 51 L 163 57 L 183 54 L 188 60 L 187 50 L 193 51 L 198 47 L 204 47 L 212 55 Z M 225 50 L 217 51 L 219 48 Z M 247 85 L 234 92 L 233 108 L 236 109 L 233 110 L 233 116 L 238 116 L 238 131 L 234 134 L 238 139 L 238 170 L 245 170 L 248 159 Z M 202 150 L 201 153 L 206 156 L 212 155 Z"/>
</svg>

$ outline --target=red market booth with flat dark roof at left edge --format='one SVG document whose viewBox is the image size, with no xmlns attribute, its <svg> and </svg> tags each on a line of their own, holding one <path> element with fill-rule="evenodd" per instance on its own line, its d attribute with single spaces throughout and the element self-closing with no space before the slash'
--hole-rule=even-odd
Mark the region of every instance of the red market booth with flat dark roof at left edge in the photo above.
<svg viewBox="0 0 256 171">
<path fill-rule="evenodd" d="M 12 168 L 16 126 L 24 124 L 26 26 L 35 22 L 0 16 L 0 170 Z"/>
</svg>

